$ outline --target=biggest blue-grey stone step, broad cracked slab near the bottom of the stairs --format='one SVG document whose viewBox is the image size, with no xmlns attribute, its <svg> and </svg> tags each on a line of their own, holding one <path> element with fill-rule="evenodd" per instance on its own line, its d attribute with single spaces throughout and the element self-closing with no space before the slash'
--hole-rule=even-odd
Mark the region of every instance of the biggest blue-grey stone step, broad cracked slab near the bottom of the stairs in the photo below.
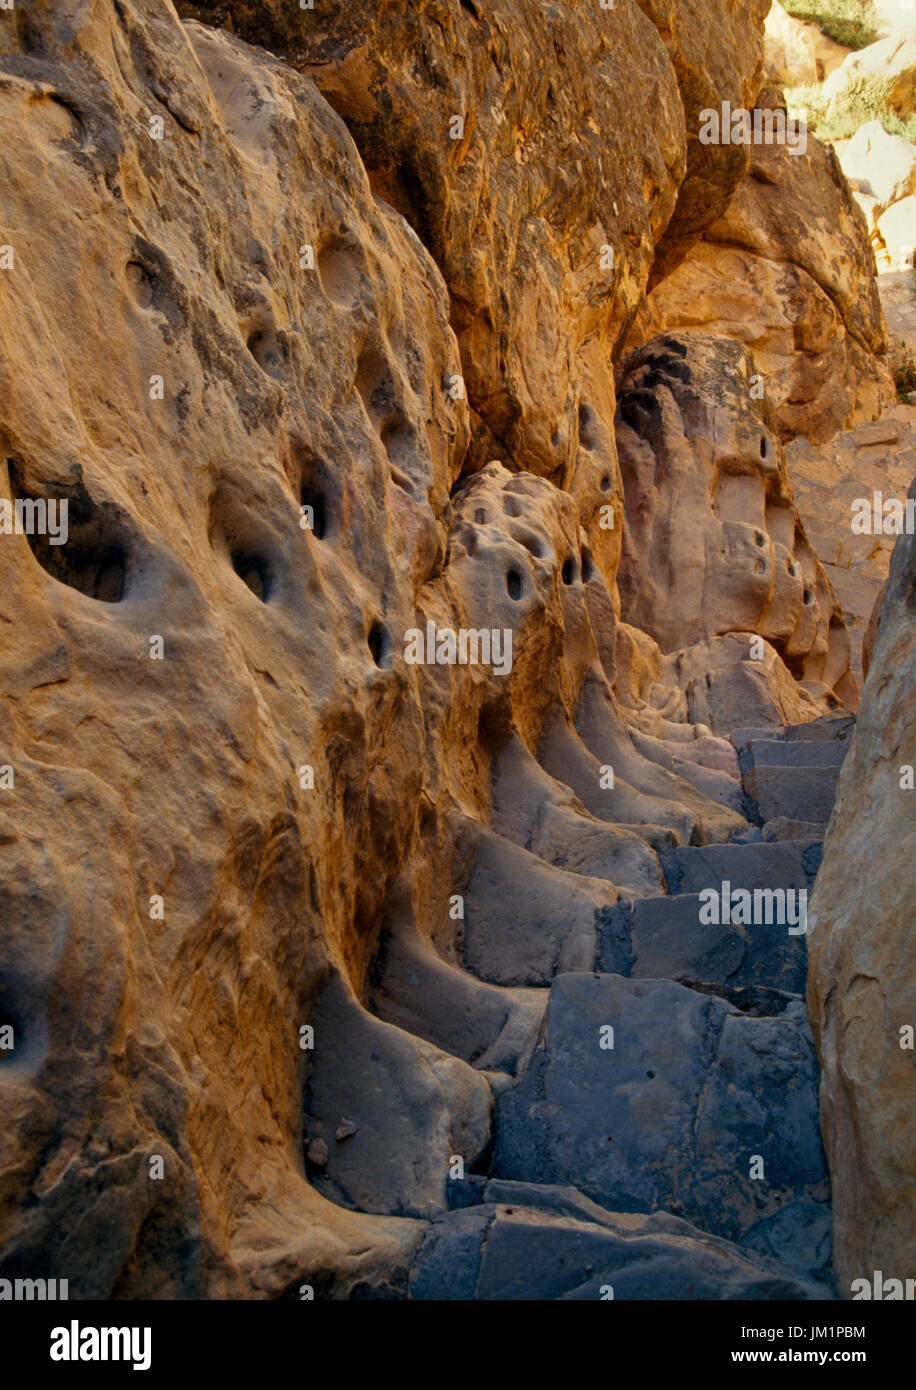
<svg viewBox="0 0 916 1390">
<path fill-rule="evenodd" d="M 808 1275 L 827 1268 L 802 999 L 760 1016 L 669 980 L 559 976 L 543 1038 L 493 1120 L 492 1177 L 569 1184 L 609 1212 L 673 1212 Z"/>
</svg>

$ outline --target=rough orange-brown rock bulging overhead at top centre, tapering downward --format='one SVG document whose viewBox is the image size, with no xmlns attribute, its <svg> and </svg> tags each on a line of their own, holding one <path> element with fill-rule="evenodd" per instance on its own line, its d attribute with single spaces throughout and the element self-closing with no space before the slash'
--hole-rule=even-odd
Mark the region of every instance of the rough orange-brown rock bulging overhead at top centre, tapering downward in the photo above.
<svg viewBox="0 0 916 1390">
<path fill-rule="evenodd" d="M 181 8 L 314 78 L 374 192 L 432 253 L 474 410 L 467 467 L 510 456 L 563 485 L 582 467 L 585 491 L 613 474 L 606 353 L 644 293 L 687 152 L 676 72 L 635 0 Z M 610 435 L 600 464 L 578 449 L 580 404 Z"/>
</svg>

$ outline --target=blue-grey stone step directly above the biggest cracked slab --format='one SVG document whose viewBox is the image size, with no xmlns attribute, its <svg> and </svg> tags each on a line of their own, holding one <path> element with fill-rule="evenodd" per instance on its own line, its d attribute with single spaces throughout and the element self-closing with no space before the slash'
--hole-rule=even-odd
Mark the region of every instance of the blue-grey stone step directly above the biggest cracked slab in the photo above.
<svg viewBox="0 0 916 1390">
<path fill-rule="evenodd" d="M 720 920 L 738 916 L 734 885 L 710 884 L 713 902 L 698 892 L 676 898 L 637 898 L 617 903 L 599 927 L 598 969 L 634 980 L 681 980 L 712 986 L 766 986 L 802 995 L 808 969 L 805 933 L 806 888 L 758 897 L 748 892 L 746 915 L 755 922 Z M 723 891 L 728 901 L 723 903 Z M 780 902 L 798 926 L 778 922 Z M 703 920 L 701 920 L 701 913 Z M 783 913 L 785 916 L 785 913 Z M 766 920 L 769 916 L 770 920 Z M 705 920 L 713 917 L 712 922 Z"/>
</svg>

